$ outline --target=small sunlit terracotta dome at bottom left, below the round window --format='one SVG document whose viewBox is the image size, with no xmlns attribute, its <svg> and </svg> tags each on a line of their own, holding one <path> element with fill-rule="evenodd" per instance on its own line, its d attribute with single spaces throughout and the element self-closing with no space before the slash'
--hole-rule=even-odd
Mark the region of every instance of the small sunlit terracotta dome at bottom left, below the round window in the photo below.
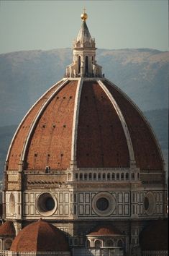
<svg viewBox="0 0 169 256">
<path fill-rule="evenodd" d="M 19 231 L 10 250 L 13 252 L 67 252 L 69 247 L 62 231 L 40 220 Z"/>
</svg>

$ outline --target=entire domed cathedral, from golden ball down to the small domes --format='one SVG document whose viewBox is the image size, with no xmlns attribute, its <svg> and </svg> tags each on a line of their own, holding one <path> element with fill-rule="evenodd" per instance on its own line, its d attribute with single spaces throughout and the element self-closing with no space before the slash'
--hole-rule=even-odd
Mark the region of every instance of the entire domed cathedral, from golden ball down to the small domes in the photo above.
<svg viewBox="0 0 169 256">
<path fill-rule="evenodd" d="M 73 64 L 9 147 L 0 255 L 167 255 L 163 155 L 81 18 Z"/>
</svg>

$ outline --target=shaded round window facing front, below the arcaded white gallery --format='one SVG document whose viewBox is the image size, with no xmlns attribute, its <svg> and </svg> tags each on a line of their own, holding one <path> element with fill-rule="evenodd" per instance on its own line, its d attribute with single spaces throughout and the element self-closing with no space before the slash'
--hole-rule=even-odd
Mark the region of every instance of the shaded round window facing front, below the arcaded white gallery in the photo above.
<svg viewBox="0 0 169 256">
<path fill-rule="evenodd" d="M 100 192 L 93 197 L 92 208 L 98 216 L 109 216 L 116 208 L 116 201 L 108 192 Z"/>
</svg>

